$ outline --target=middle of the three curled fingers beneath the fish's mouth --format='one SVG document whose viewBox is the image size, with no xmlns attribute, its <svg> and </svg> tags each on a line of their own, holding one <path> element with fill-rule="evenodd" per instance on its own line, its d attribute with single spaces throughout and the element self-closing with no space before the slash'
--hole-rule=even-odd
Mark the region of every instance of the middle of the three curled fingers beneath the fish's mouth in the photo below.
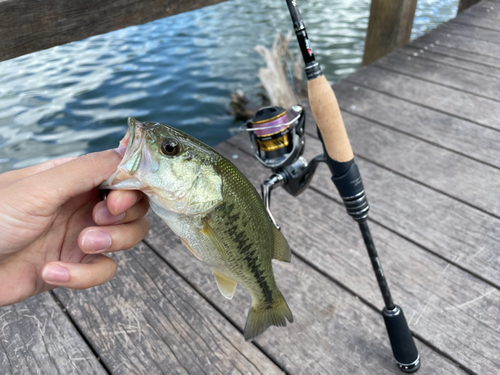
<svg viewBox="0 0 500 375">
<path fill-rule="evenodd" d="M 89 227 L 80 232 L 78 246 L 87 254 L 126 250 L 141 242 L 148 231 L 149 221 L 145 217 L 127 224 Z"/>
</svg>

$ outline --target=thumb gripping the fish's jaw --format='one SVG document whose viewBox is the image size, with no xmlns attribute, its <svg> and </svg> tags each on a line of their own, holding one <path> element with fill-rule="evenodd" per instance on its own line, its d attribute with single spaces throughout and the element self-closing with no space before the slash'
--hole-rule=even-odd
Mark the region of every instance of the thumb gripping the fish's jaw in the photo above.
<svg viewBox="0 0 500 375">
<path fill-rule="evenodd" d="M 34 195 L 33 198 L 40 199 L 46 205 L 42 208 L 53 211 L 69 199 L 99 186 L 115 172 L 122 157 L 121 149 L 83 155 L 28 176 L 21 183 L 24 190 L 31 193 L 29 195 Z"/>
</svg>

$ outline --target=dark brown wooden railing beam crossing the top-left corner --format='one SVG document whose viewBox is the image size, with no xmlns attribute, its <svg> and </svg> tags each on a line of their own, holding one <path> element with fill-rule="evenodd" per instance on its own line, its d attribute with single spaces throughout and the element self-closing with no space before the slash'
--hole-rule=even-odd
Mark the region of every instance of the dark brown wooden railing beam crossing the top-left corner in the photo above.
<svg viewBox="0 0 500 375">
<path fill-rule="evenodd" d="M 0 61 L 225 0 L 0 0 Z"/>
</svg>

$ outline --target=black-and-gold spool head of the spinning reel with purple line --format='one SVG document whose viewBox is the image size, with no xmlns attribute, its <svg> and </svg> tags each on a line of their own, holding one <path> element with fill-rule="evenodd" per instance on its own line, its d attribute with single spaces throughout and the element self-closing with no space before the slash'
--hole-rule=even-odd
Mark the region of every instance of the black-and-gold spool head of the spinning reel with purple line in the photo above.
<svg viewBox="0 0 500 375">
<path fill-rule="evenodd" d="M 276 169 L 292 164 L 304 151 L 304 125 L 305 112 L 300 105 L 289 112 L 270 106 L 259 109 L 240 130 L 249 133 L 257 160 Z"/>
</svg>

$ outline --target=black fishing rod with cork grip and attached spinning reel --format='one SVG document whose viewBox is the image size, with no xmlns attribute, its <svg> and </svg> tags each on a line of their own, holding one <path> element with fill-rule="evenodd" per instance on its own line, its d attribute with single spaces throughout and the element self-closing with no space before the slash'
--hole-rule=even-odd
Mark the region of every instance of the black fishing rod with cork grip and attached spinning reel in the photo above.
<svg viewBox="0 0 500 375">
<path fill-rule="evenodd" d="M 420 368 L 420 356 L 403 310 L 392 300 L 368 227 L 370 206 L 337 99 L 314 57 L 296 1 L 286 0 L 286 3 L 305 63 L 309 103 L 324 153 L 310 162 L 301 156 L 305 146 L 305 111 L 300 105 L 293 106 L 289 111 L 276 106 L 257 111 L 251 120 L 242 125 L 241 130 L 249 132 L 255 157 L 273 171 L 271 177 L 262 184 L 264 204 L 271 220 L 279 229 L 271 213 L 271 191 L 281 186 L 288 193 L 297 196 L 308 187 L 318 164 L 325 162 L 328 165 L 346 211 L 358 223 L 363 236 L 384 300 L 382 316 L 396 364 L 403 372 L 416 372 Z"/>
</svg>

